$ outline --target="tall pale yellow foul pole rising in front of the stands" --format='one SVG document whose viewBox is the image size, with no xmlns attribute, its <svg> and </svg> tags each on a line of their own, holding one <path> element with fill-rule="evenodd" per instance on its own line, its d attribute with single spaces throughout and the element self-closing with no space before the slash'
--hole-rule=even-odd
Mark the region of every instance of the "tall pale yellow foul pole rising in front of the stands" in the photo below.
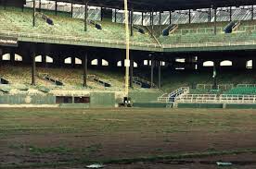
<svg viewBox="0 0 256 169">
<path fill-rule="evenodd" d="M 124 17 L 125 17 L 125 40 L 126 40 L 126 63 L 125 63 L 125 90 L 124 94 L 128 97 L 129 92 L 129 62 L 130 59 L 130 33 L 129 33 L 129 18 L 128 18 L 128 2 L 124 0 Z"/>
</svg>

